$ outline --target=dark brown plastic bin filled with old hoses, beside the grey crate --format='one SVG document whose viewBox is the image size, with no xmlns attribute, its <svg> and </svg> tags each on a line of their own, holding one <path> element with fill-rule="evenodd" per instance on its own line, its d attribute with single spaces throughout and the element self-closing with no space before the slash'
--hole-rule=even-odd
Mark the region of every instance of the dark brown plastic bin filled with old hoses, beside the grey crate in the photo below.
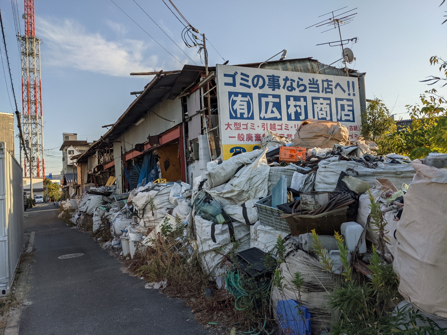
<svg viewBox="0 0 447 335">
<path fill-rule="evenodd" d="M 340 231 L 343 222 L 346 222 L 346 210 L 348 207 L 334 209 L 318 215 L 295 215 L 287 218 L 292 235 L 310 233 L 315 229 L 319 235 L 333 235 L 334 231 Z"/>
</svg>

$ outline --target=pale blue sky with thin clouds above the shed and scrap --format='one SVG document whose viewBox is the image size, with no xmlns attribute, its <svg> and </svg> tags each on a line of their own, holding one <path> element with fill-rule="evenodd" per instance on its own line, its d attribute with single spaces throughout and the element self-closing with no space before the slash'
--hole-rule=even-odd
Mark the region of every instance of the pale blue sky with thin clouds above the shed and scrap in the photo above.
<svg viewBox="0 0 447 335">
<path fill-rule="evenodd" d="M 114 0 L 132 19 L 181 63 L 200 65 L 197 49 L 181 41 L 183 26 L 162 0 L 137 3 L 181 50 L 143 13 L 133 0 Z M 168 4 L 168 0 L 165 0 Z M 340 58 L 339 47 L 316 46 L 335 41 L 335 30 L 306 27 L 331 10 L 347 6 L 354 21 L 342 27 L 343 38 L 358 37 L 350 46 L 357 58 L 350 64 L 366 72 L 367 98 L 383 98 L 396 117 L 408 117 L 405 105 L 417 103 L 427 89 L 420 83 L 437 75 L 432 55 L 447 58 L 447 24 L 441 25 L 447 4 L 441 1 L 198 1 L 175 0 L 186 19 L 229 64 L 261 62 L 280 50 L 287 58 L 313 57 L 322 63 Z M 23 2 L 18 1 L 19 13 Z M 0 1 L 13 80 L 21 106 L 20 55 L 15 40 L 11 3 Z M 42 108 L 46 172 L 61 169 L 62 133 L 96 140 L 103 125 L 114 123 L 152 78 L 132 71 L 177 70 L 182 64 L 132 22 L 111 0 L 35 1 L 36 35 L 42 39 Z M 24 21 L 21 20 L 23 33 Z M 223 63 L 208 45 L 210 64 Z M 3 51 L 3 48 L 2 48 Z M 3 54 L 4 56 L 4 54 Z M 8 79 L 8 77 L 7 77 Z M 0 111 L 12 112 L 4 78 L 0 78 Z M 11 93 L 10 93 L 11 95 Z M 12 96 L 11 96 L 12 98 Z M 21 110 L 20 110 L 21 111 Z"/>
</svg>

